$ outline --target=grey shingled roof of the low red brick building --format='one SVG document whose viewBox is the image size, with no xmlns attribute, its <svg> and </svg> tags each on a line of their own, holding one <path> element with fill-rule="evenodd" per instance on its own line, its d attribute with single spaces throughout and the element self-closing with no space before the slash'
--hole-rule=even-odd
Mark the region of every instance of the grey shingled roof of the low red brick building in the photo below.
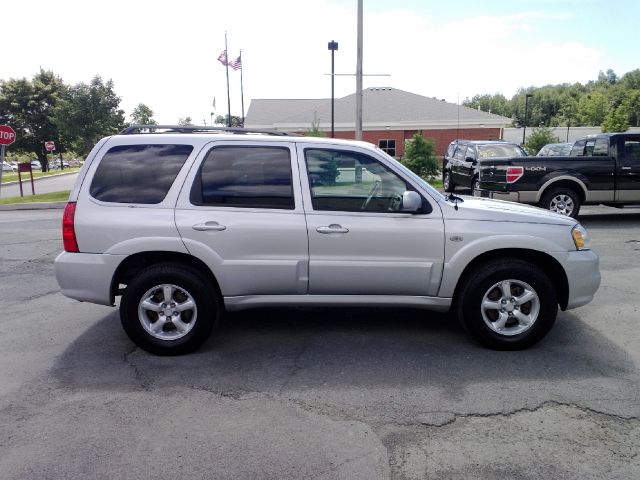
<svg viewBox="0 0 640 480">
<path fill-rule="evenodd" d="M 397 88 L 375 87 L 362 92 L 364 130 L 505 127 L 511 119 L 458 106 Z M 356 94 L 335 99 L 336 130 L 355 127 Z M 254 99 L 245 119 L 247 128 L 307 129 L 319 122 L 331 128 L 331 99 Z"/>
</svg>

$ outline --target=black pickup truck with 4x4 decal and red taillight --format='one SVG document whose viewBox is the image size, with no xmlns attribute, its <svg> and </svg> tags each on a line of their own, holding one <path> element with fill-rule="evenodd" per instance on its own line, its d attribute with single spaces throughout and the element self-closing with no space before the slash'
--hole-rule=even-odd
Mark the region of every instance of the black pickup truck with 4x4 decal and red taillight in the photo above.
<svg viewBox="0 0 640 480">
<path fill-rule="evenodd" d="M 640 205 L 640 133 L 581 138 L 568 157 L 485 160 L 475 195 L 538 205 L 574 218 L 585 204 Z"/>
</svg>

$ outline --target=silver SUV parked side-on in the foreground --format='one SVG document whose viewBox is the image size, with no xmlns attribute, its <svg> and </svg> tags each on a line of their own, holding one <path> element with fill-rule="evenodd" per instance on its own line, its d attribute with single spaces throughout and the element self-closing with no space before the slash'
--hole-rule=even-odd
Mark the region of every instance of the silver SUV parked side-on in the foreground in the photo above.
<svg viewBox="0 0 640 480">
<path fill-rule="evenodd" d="M 483 345 L 520 349 L 600 283 L 574 219 L 444 196 L 355 141 L 131 127 L 93 148 L 62 229 L 62 292 L 121 296 L 124 330 L 156 354 L 272 305 L 451 310 Z"/>
</svg>

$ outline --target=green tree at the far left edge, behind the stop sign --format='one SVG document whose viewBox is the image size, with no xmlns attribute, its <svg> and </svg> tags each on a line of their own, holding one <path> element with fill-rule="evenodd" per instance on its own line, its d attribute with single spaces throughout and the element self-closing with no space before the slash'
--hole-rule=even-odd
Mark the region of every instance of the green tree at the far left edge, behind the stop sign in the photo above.
<svg viewBox="0 0 640 480">
<path fill-rule="evenodd" d="M 42 69 L 32 80 L 0 81 L 0 123 L 11 125 L 17 137 L 11 148 L 35 155 L 43 171 L 48 170 L 44 142 L 55 141 L 58 152 L 68 148 L 55 121 L 56 106 L 66 91 L 60 77 Z"/>
</svg>

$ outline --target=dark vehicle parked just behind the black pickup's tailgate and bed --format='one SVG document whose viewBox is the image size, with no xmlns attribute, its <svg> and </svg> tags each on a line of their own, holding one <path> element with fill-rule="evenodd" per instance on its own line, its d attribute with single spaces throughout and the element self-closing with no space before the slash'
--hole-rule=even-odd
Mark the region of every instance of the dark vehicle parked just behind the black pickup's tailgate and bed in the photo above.
<svg viewBox="0 0 640 480">
<path fill-rule="evenodd" d="M 457 186 L 479 189 L 480 163 L 495 158 L 525 157 L 527 152 L 515 143 L 504 140 L 454 140 L 449 144 L 442 164 L 442 184 L 445 192 Z"/>
</svg>

